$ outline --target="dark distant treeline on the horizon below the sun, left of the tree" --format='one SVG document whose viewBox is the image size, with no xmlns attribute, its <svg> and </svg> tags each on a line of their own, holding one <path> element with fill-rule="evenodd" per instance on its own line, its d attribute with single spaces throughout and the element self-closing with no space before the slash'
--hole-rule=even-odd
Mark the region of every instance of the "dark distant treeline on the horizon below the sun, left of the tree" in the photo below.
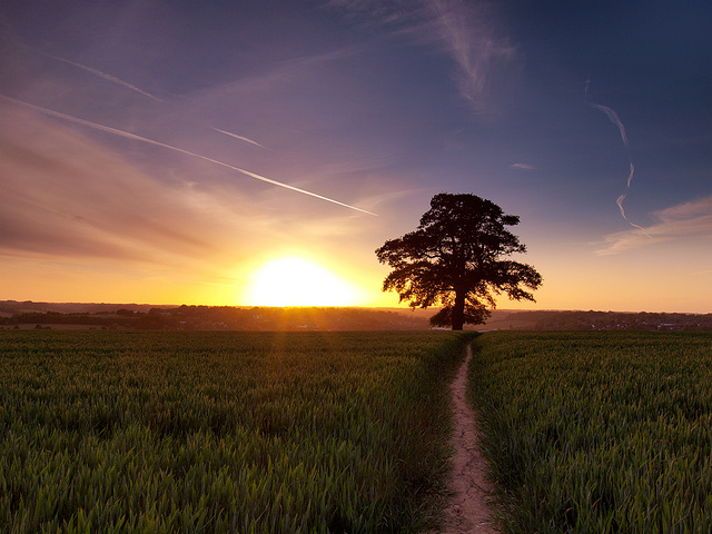
<svg viewBox="0 0 712 534">
<path fill-rule="evenodd" d="M 429 328 L 419 315 L 369 308 L 238 308 L 179 306 L 137 312 L 24 312 L 0 317 L 0 325 L 83 325 L 98 328 L 150 330 L 421 330 Z"/>
</svg>

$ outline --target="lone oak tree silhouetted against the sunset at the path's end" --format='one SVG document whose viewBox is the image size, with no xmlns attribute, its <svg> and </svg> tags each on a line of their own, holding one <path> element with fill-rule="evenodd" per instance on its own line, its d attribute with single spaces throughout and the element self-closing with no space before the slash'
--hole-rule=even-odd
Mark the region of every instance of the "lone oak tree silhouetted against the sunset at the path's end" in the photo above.
<svg viewBox="0 0 712 534">
<path fill-rule="evenodd" d="M 441 305 L 431 324 L 453 330 L 484 323 L 495 295 L 533 301 L 525 288 L 536 289 L 542 276 L 530 265 L 505 259 L 526 251 L 505 228 L 518 222 L 517 216 L 504 215 L 475 195 L 435 195 L 415 231 L 376 250 L 378 260 L 393 268 L 383 290 L 395 289 L 412 308 Z"/>
</svg>

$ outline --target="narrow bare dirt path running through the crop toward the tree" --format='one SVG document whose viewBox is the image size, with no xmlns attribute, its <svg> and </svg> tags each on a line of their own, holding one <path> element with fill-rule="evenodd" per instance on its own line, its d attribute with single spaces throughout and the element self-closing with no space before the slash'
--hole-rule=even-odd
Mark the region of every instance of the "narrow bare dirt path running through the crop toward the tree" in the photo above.
<svg viewBox="0 0 712 534">
<path fill-rule="evenodd" d="M 455 433 L 453 437 L 453 472 L 449 486 L 454 493 L 451 505 L 445 510 L 442 534 L 487 533 L 496 531 L 490 525 L 491 508 L 485 501 L 490 484 L 485 481 L 485 462 L 477 451 L 477 423 L 466 402 L 467 364 L 472 349 L 467 346 L 467 357 L 453 382 L 453 405 Z"/>
</svg>

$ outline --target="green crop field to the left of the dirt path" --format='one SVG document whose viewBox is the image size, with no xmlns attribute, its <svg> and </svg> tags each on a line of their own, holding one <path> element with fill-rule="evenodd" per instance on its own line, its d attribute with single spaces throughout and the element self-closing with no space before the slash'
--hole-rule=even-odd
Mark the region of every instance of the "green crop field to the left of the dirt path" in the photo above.
<svg viewBox="0 0 712 534">
<path fill-rule="evenodd" d="M 0 530 L 418 532 L 466 339 L 1 330 Z"/>
</svg>

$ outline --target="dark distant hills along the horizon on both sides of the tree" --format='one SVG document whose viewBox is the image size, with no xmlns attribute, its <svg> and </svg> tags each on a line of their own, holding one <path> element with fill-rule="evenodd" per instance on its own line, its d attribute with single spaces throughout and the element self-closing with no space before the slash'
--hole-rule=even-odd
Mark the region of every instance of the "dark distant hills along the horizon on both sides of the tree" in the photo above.
<svg viewBox="0 0 712 534">
<path fill-rule="evenodd" d="M 436 308 L 154 306 L 0 300 L 4 328 L 421 330 Z M 476 330 L 712 330 L 712 314 L 495 309 Z"/>
</svg>

